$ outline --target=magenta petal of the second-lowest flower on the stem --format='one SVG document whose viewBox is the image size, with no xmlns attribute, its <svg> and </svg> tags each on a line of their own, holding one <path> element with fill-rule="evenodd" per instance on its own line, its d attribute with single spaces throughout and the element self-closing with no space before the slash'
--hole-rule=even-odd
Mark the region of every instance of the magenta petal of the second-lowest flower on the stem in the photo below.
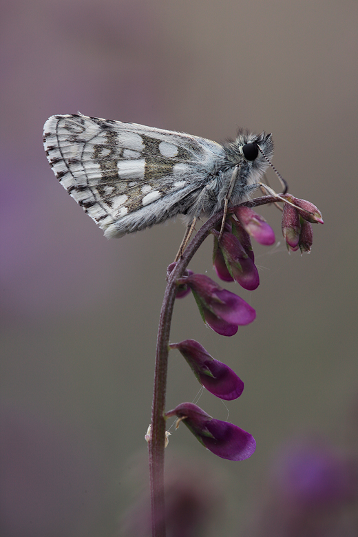
<svg viewBox="0 0 358 537">
<path fill-rule="evenodd" d="M 202 386 L 205 386 L 209 392 L 225 401 L 233 401 L 238 399 L 244 390 L 244 383 L 226 364 L 221 361 L 211 360 L 205 362 L 205 366 L 209 369 L 213 377 L 209 375 L 199 374 Z"/>
</svg>

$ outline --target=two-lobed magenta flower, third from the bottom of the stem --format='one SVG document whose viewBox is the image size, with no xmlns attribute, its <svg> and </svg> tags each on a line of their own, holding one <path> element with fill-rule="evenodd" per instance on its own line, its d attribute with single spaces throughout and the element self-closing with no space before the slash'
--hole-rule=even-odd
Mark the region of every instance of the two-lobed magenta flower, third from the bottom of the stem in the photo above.
<svg viewBox="0 0 358 537">
<path fill-rule="evenodd" d="M 202 319 L 220 335 L 234 335 L 238 326 L 249 324 L 256 317 L 247 302 L 203 274 L 191 274 L 179 283 L 189 285 Z"/>
</svg>

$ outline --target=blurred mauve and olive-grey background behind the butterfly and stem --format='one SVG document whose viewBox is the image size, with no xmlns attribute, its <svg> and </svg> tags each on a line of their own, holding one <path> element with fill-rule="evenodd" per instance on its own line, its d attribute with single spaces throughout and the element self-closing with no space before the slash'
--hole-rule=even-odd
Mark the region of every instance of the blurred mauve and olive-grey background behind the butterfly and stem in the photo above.
<svg viewBox="0 0 358 537">
<path fill-rule="evenodd" d="M 209 479 L 202 489 L 221 518 L 206 535 L 294 535 L 263 515 L 266 496 L 286 490 L 276 478 L 287 450 L 308 450 L 321 467 L 327 450 L 339 464 L 357 454 L 357 2 L 1 4 L 1 536 L 133 534 L 128 512 L 147 487 L 158 316 L 185 228 L 178 219 L 103 238 L 43 151 L 45 120 L 78 111 L 218 142 L 238 127 L 272 132 L 291 193 L 321 209 L 324 226 L 302 256 L 288 255 L 280 213 L 260 210 L 277 233 L 275 246 L 255 247 L 260 287 L 225 285 L 256 309 L 253 324 L 220 337 L 189 296 L 171 331 L 242 378 L 240 399 L 203 392 L 198 404 L 251 432 L 257 450 L 224 461 L 181 426 L 168 475 Z M 211 247 L 190 268 L 216 279 Z M 167 409 L 199 388 L 172 352 Z M 315 463 L 304 467 L 317 475 Z"/>
</svg>

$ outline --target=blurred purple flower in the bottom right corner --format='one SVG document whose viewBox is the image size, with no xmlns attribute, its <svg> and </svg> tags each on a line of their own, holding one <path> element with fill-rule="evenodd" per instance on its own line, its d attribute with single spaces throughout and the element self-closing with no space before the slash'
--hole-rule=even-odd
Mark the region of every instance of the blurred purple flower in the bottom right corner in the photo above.
<svg viewBox="0 0 358 537">
<path fill-rule="evenodd" d="M 358 535 L 357 454 L 335 448 L 330 441 L 337 434 L 337 426 L 332 424 L 330 439 L 319 439 L 310 432 L 306 438 L 295 439 L 280 450 L 268 483 L 262 483 L 266 499 L 258 500 L 256 527 L 248 528 L 246 534 Z"/>
</svg>

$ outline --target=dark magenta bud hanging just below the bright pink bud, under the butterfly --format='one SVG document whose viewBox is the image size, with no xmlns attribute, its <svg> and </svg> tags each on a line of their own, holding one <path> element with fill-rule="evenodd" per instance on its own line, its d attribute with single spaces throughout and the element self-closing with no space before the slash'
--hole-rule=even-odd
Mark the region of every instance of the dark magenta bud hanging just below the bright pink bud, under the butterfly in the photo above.
<svg viewBox="0 0 358 537">
<path fill-rule="evenodd" d="M 218 231 L 212 231 L 212 233 L 218 239 Z M 218 250 L 221 251 L 227 270 L 233 277 L 233 280 L 238 282 L 244 289 L 254 291 L 260 284 L 259 273 L 253 260 L 247 255 L 238 238 L 233 233 L 224 231 L 220 243 L 218 242 Z M 214 266 L 218 273 L 215 260 Z M 221 264 L 219 264 L 219 267 L 222 268 Z M 225 273 L 223 274 L 225 275 Z M 220 277 L 219 273 L 218 276 Z"/>
</svg>

